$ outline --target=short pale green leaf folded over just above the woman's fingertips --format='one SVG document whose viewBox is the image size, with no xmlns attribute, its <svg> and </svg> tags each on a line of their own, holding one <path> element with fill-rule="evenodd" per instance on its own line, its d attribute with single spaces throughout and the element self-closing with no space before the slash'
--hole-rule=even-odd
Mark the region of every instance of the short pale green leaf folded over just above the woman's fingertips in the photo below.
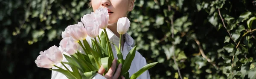
<svg viewBox="0 0 256 79">
<path fill-rule="evenodd" d="M 112 64 L 112 60 L 111 60 L 110 56 L 101 58 L 101 62 L 102 62 L 102 66 L 105 68 L 105 70 L 108 71 L 108 69 L 110 68 L 110 66 Z"/>
</svg>

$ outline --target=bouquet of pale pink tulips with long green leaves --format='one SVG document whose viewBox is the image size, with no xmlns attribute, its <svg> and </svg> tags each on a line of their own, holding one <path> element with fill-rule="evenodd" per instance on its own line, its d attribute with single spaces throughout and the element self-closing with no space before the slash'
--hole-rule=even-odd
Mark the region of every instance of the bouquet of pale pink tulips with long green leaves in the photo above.
<svg viewBox="0 0 256 79">
<path fill-rule="evenodd" d="M 114 59 L 111 48 L 113 43 L 109 41 L 106 32 L 108 18 L 107 8 L 99 8 L 95 13 L 91 12 L 91 14 L 84 15 L 81 18 L 81 22 L 67 26 L 65 31 L 62 32 L 61 36 L 63 39 L 59 44 L 59 48 L 53 45 L 49 49 L 41 51 L 35 63 L 39 68 L 49 68 L 52 71 L 60 72 L 69 79 L 92 79 L 101 65 L 105 68 L 105 73 L 108 72 Z M 129 27 L 130 21 L 128 18 L 119 18 L 117 32 L 120 34 L 120 42 L 122 34 L 125 34 Z M 104 32 L 101 32 L 99 35 L 100 29 Z M 87 36 L 90 36 L 91 39 L 87 40 Z M 125 79 L 136 79 L 144 71 L 157 64 L 157 62 L 153 62 L 145 65 L 129 77 L 128 70 L 134 59 L 136 46 L 131 49 L 125 59 L 122 58 L 123 56 L 120 51 L 121 43 L 119 43 L 119 47 L 116 45 L 114 47 L 117 51 L 117 63 L 122 64 L 120 76 L 124 76 Z M 63 54 L 64 52 L 68 55 Z M 63 56 L 68 62 L 62 62 Z M 61 63 L 66 69 L 56 66 L 58 63 Z M 69 65 L 72 71 L 65 65 Z M 52 69 L 53 66 L 58 69 Z"/>
</svg>

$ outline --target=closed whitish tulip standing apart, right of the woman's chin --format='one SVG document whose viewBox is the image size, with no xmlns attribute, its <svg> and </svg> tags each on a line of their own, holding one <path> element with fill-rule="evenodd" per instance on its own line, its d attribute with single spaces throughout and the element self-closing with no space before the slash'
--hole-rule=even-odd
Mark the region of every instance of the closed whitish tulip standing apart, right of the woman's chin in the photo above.
<svg viewBox="0 0 256 79">
<path fill-rule="evenodd" d="M 125 34 L 130 27 L 130 20 L 127 17 L 119 18 L 117 21 L 117 32 L 119 34 Z"/>
</svg>

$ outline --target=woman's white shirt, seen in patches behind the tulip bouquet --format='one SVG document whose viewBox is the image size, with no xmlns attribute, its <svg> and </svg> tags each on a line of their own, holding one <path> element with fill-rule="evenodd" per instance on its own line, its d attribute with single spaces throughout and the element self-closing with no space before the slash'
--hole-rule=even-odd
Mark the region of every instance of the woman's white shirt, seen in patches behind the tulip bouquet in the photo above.
<svg viewBox="0 0 256 79">
<path fill-rule="evenodd" d="M 119 45 L 119 37 L 117 37 L 112 31 L 110 31 L 108 28 L 106 28 L 107 33 L 108 33 L 108 38 L 109 41 L 113 42 L 116 46 Z M 101 29 L 100 33 L 103 30 Z M 90 39 L 91 37 L 87 37 L 86 40 L 89 41 L 88 43 L 91 45 L 90 43 Z M 125 43 L 123 48 L 121 48 L 121 52 L 123 55 L 123 59 L 126 58 L 127 54 L 129 53 L 129 51 L 133 48 L 134 46 L 134 40 L 131 38 L 130 35 L 128 35 L 127 33 L 124 34 L 124 39 L 125 39 Z M 116 49 L 114 47 L 113 44 L 111 44 L 111 48 L 113 50 L 113 55 L 114 58 L 117 58 L 116 56 Z M 59 47 L 59 49 L 62 51 L 62 49 Z M 123 50 L 122 50 L 123 49 Z M 63 54 L 69 55 L 66 52 L 64 52 Z M 65 57 L 63 57 L 63 62 L 68 62 L 67 59 L 65 59 Z M 128 70 L 128 72 L 130 73 L 130 76 L 134 73 L 136 73 L 137 71 L 139 71 L 143 66 L 147 65 L 147 62 L 145 60 L 145 58 L 136 51 L 135 57 L 133 59 L 133 61 L 131 62 L 131 67 Z M 61 65 L 61 63 L 57 64 L 58 67 L 60 68 L 64 68 L 63 65 Z M 66 65 L 67 68 L 69 68 L 70 71 L 72 71 L 72 69 L 70 68 L 69 65 Z M 56 67 L 52 67 L 52 69 L 57 69 Z M 66 76 L 64 76 L 62 73 L 56 72 L 56 71 L 52 71 L 52 79 L 68 79 Z M 104 76 L 100 75 L 100 74 L 96 74 L 93 79 L 106 79 Z M 145 71 L 144 73 L 142 73 L 137 79 L 150 79 L 150 75 L 148 73 L 148 71 Z"/>
</svg>

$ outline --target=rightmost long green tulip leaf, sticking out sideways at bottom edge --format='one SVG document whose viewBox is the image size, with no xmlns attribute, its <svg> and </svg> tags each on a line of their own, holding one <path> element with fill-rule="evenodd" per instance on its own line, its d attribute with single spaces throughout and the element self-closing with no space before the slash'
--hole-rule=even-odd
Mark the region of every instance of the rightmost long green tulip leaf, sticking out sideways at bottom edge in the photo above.
<svg viewBox="0 0 256 79">
<path fill-rule="evenodd" d="M 131 75 L 131 79 L 136 79 L 137 77 L 139 77 L 143 72 L 147 71 L 149 68 L 154 67 L 155 65 L 157 65 L 158 62 L 152 62 L 148 65 L 143 66 L 139 71 L 137 71 L 136 73 Z"/>
</svg>

